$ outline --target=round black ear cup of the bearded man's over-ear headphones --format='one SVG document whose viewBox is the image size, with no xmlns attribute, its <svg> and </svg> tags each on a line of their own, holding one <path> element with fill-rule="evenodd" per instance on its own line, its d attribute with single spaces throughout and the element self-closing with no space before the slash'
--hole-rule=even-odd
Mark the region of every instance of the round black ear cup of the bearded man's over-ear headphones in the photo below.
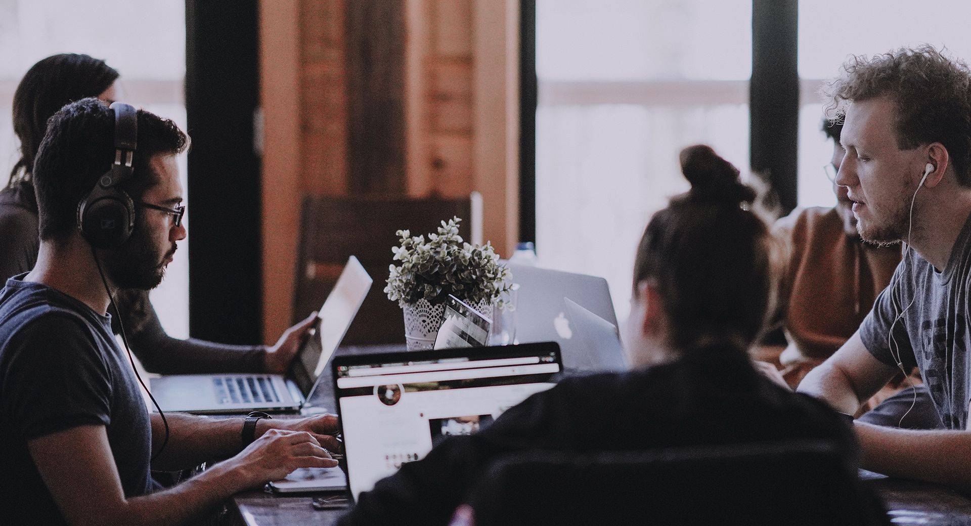
<svg viewBox="0 0 971 526">
<path fill-rule="evenodd" d="M 116 248 L 135 229 L 135 205 L 124 190 L 94 187 L 78 207 L 78 227 L 95 248 Z"/>
</svg>

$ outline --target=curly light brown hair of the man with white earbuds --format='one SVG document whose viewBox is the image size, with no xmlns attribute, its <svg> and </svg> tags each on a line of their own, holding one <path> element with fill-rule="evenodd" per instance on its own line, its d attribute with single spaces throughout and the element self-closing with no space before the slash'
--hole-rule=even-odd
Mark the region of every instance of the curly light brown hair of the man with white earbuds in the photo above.
<svg viewBox="0 0 971 526">
<path fill-rule="evenodd" d="M 931 46 L 854 56 L 844 75 L 823 93 L 829 112 L 847 103 L 890 97 L 896 108 L 897 148 L 941 143 L 948 149 L 957 181 L 971 186 L 971 71 L 967 64 Z"/>
</svg>

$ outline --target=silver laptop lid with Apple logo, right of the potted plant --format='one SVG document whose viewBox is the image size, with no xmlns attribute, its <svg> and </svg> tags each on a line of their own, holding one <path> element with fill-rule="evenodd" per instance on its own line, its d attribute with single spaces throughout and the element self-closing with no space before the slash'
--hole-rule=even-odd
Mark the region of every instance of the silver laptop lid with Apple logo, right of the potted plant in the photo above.
<svg viewBox="0 0 971 526">
<path fill-rule="evenodd" d="M 601 347 L 589 348 L 577 341 L 573 324 L 566 312 L 564 298 L 573 298 L 578 305 L 617 327 L 617 314 L 610 297 L 607 280 L 584 274 L 540 269 L 523 265 L 509 265 L 513 282 L 519 283 L 516 302 L 516 342 L 556 342 L 563 353 L 563 367 L 567 373 L 599 373 L 612 371 L 607 363 L 612 358 L 588 356 L 590 352 L 611 353 Z M 622 358 L 622 356 L 621 356 Z"/>
</svg>

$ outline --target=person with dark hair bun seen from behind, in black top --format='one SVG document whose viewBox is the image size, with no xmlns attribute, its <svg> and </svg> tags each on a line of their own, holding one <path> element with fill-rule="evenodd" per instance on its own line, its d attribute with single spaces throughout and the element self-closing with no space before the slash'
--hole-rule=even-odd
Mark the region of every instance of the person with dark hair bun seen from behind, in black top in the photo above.
<svg viewBox="0 0 971 526">
<path fill-rule="evenodd" d="M 810 439 L 835 444 L 855 473 L 844 419 L 760 375 L 747 354 L 777 260 L 766 224 L 747 210 L 755 192 L 712 148 L 686 148 L 681 164 L 690 191 L 653 215 L 637 249 L 623 339 L 631 371 L 566 378 L 479 433 L 448 438 L 362 493 L 344 524 L 447 524 L 491 460 L 531 449 Z"/>
</svg>

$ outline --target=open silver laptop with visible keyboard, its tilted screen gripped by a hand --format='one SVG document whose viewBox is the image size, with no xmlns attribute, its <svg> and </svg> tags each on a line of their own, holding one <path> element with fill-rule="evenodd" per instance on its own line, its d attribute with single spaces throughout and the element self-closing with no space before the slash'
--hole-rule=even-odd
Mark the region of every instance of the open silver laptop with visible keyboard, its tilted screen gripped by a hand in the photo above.
<svg viewBox="0 0 971 526">
<path fill-rule="evenodd" d="M 351 256 L 318 313 L 316 332 L 301 346 L 283 375 L 172 375 L 151 378 L 162 411 L 295 411 L 310 399 L 337 345 L 351 327 L 372 279 Z"/>
</svg>

